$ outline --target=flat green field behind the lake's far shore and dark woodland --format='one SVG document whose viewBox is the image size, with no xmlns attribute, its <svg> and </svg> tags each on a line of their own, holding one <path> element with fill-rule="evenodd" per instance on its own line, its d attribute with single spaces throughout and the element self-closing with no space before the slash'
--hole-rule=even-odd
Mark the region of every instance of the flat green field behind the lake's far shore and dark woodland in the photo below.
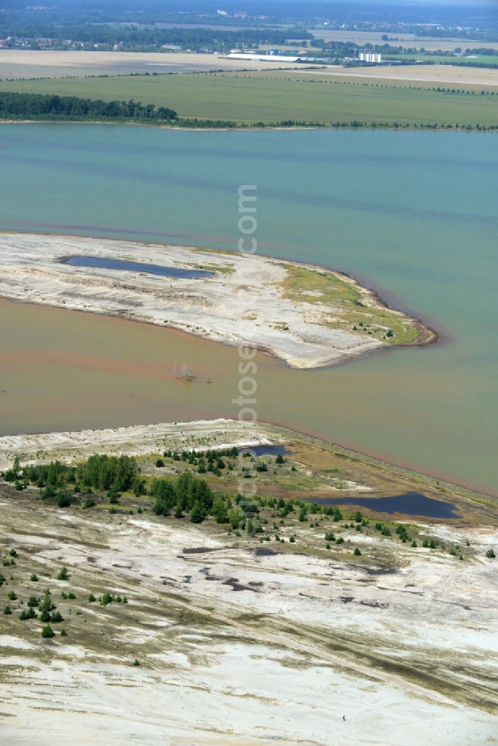
<svg viewBox="0 0 498 746">
<path fill-rule="evenodd" d="M 289 119 L 370 124 L 498 125 L 498 90 L 468 87 L 461 93 L 335 78 L 314 72 L 234 72 L 141 75 L 113 78 L 62 78 L 8 81 L 1 90 L 57 93 L 81 98 L 170 107 L 180 117 L 235 122 L 281 122 Z M 427 84 L 426 84 L 427 85 Z M 448 85 L 448 84 L 446 84 Z M 463 86 L 461 86 L 462 88 Z"/>
</svg>

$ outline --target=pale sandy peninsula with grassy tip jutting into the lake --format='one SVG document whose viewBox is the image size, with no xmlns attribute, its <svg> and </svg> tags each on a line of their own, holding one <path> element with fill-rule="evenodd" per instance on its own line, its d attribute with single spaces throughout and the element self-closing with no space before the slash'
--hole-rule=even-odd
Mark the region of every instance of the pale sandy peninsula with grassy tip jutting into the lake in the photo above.
<svg viewBox="0 0 498 746">
<path fill-rule="evenodd" d="M 137 263 L 72 266 L 68 257 Z M 0 296 L 172 327 L 229 345 L 254 345 L 289 366 L 328 366 L 435 333 L 385 306 L 356 280 L 258 255 L 28 233 L 0 235 Z M 171 278 L 140 264 L 206 272 Z"/>
</svg>

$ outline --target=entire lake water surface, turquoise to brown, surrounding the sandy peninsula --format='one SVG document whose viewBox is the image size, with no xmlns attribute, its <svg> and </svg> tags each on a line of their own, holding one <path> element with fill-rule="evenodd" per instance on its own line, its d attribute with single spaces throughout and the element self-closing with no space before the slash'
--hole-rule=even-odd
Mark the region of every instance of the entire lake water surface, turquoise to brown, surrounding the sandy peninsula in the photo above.
<svg viewBox="0 0 498 746">
<path fill-rule="evenodd" d="M 310 372 L 258 356 L 259 418 L 496 492 L 496 137 L 2 125 L 0 228 L 236 249 L 237 190 L 256 184 L 261 253 L 349 272 L 442 334 Z M 0 313 L 1 433 L 237 413 L 233 348 Z M 175 360 L 198 380 L 175 380 Z"/>
</svg>

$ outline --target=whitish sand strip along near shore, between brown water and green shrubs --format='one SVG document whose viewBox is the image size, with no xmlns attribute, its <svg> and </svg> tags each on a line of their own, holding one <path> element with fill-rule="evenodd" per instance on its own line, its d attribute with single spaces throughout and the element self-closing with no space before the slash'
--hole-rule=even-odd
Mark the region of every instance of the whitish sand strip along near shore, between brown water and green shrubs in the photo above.
<svg viewBox="0 0 498 746">
<path fill-rule="evenodd" d="M 203 439 L 200 445 L 199 439 Z M 9 435 L 0 438 L 0 470 L 8 468 L 15 456 L 19 456 L 22 463 L 40 463 L 52 459 L 69 462 L 75 458 L 89 457 L 96 451 L 108 455 L 146 456 L 162 451 L 166 446 L 184 446 L 202 451 L 213 446 L 249 448 L 280 440 L 270 426 L 222 418 L 80 430 L 75 433 Z"/>
</svg>

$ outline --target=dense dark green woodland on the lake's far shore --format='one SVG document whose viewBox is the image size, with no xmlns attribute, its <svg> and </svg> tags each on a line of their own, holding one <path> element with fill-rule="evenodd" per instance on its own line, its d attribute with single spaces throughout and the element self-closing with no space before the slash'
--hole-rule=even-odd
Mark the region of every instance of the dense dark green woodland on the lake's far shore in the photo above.
<svg viewBox="0 0 498 746">
<path fill-rule="evenodd" d="M 164 106 L 141 101 L 93 101 L 77 96 L 0 91 L 1 119 L 176 119 Z"/>
</svg>

